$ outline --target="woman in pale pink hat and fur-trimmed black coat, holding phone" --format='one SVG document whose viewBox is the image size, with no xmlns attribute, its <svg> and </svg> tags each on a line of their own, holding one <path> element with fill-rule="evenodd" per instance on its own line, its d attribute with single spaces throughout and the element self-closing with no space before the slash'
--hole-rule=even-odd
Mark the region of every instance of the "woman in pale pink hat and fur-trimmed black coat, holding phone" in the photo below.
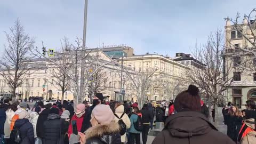
<svg viewBox="0 0 256 144">
<path fill-rule="evenodd" d="M 109 105 L 97 105 L 92 110 L 92 127 L 85 134 L 78 132 L 81 144 L 120 144 L 119 125 L 114 121 Z"/>
</svg>

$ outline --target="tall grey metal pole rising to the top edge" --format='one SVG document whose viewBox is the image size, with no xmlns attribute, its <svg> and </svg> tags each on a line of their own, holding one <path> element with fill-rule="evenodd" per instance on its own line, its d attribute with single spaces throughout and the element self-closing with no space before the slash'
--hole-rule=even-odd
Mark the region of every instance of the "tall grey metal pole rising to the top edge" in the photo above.
<svg viewBox="0 0 256 144">
<path fill-rule="evenodd" d="M 84 31 L 83 31 L 82 57 L 85 57 L 87 4 L 88 4 L 88 0 L 85 0 L 85 3 L 84 3 Z M 77 98 L 77 100 L 78 100 L 77 102 L 81 102 L 81 98 L 84 94 L 84 71 L 85 71 L 85 58 L 82 58 L 82 62 L 81 62 L 81 81 L 80 81 L 80 89 L 79 89 L 79 95 L 78 95 L 78 98 Z"/>
</svg>

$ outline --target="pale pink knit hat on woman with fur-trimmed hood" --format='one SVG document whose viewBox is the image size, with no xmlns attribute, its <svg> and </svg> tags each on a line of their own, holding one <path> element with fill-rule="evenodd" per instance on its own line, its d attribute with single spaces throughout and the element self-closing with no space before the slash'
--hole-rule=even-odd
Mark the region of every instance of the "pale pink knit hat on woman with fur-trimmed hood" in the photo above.
<svg viewBox="0 0 256 144">
<path fill-rule="evenodd" d="M 113 111 L 108 105 L 97 105 L 92 110 L 92 115 L 97 119 L 100 125 L 109 125 L 115 118 Z"/>
</svg>

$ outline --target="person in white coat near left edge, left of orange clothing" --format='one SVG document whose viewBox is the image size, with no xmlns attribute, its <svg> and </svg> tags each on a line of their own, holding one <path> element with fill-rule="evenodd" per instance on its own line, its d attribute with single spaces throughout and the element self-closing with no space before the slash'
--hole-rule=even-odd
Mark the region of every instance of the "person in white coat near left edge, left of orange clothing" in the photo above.
<svg viewBox="0 0 256 144">
<path fill-rule="evenodd" d="M 11 134 L 11 129 L 10 129 L 10 125 L 11 125 L 11 121 L 12 121 L 12 117 L 15 114 L 15 111 L 17 110 L 17 105 L 10 105 L 9 109 L 7 109 L 5 111 L 6 114 L 6 120 L 4 123 L 4 140 L 5 143 L 10 143 L 10 134 Z"/>
</svg>

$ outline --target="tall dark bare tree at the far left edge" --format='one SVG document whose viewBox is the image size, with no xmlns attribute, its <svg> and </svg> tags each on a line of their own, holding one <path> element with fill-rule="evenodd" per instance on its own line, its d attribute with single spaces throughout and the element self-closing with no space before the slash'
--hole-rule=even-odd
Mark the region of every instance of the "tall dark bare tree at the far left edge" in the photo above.
<svg viewBox="0 0 256 144">
<path fill-rule="evenodd" d="M 7 45 L 5 53 L 0 61 L 2 73 L 0 73 L 7 84 L 12 89 L 12 101 L 15 100 L 16 89 L 25 79 L 30 67 L 28 64 L 29 50 L 34 47 L 34 39 L 25 33 L 20 21 L 14 22 L 14 26 L 10 28 L 10 33 L 5 32 Z"/>
</svg>

